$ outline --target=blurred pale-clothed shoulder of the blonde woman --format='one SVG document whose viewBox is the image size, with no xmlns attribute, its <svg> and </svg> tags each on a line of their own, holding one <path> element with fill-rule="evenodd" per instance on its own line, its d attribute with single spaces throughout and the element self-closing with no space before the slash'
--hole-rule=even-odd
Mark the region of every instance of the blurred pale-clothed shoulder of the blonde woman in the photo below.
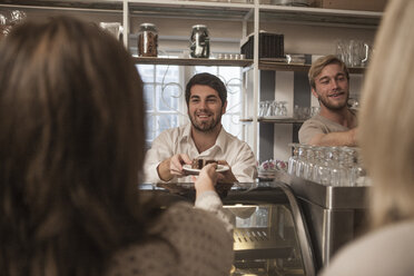
<svg viewBox="0 0 414 276">
<path fill-rule="evenodd" d="M 328 275 L 411 275 L 414 220 L 372 231 L 342 249 L 322 273 Z"/>
</svg>

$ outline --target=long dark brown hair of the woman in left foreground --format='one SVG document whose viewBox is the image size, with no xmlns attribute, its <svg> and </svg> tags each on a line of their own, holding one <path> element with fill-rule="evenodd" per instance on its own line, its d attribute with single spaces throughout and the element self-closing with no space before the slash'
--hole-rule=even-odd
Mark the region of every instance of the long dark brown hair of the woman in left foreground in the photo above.
<svg viewBox="0 0 414 276">
<path fill-rule="evenodd" d="M 142 83 L 124 46 L 59 17 L 0 45 L 0 270 L 102 275 L 147 235 Z"/>
</svg>

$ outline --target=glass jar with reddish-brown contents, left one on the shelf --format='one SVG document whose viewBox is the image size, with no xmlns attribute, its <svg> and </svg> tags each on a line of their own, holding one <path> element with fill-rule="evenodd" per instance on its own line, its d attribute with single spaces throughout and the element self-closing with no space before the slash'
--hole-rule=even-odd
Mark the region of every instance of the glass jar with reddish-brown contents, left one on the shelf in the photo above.
<svg viewBox="0 0 414 276">
<path fill-rule="evenodd" d="M 138 57 L 158 56 L 158 31 L 152 23 L 141 23 L 138 30 Z"/>
</svg>

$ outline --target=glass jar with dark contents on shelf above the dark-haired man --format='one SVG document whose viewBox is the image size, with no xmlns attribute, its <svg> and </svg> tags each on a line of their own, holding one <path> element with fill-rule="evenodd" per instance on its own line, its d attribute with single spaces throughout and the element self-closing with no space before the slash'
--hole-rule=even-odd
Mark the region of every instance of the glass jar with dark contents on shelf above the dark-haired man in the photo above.
<svg viewBox="0 0 414 276">
<path fill-rule="evenodd" d="M 190 37 L 191 58 L 208 58 L 210 56 L 210 38 L 207 26 L 195 24 Z"/>
</svg>

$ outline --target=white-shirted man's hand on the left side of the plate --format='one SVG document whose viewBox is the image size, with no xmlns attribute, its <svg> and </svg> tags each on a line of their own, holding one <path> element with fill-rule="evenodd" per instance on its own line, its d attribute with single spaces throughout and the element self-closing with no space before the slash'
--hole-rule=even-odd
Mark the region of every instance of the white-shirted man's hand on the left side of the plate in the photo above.
<svg viewBox="0 0 414 276">
<path fill-rule="evenodd" d="M 168 159 L 165 159 L 158 165 L 157 168 L 159 178 L 164 181 L 169 181 L 175 176 L 185 176 L 183 170 L 184 164 L 191 164 L 190 158 L 186 154 L 177 154 Z"/>
</svg>

